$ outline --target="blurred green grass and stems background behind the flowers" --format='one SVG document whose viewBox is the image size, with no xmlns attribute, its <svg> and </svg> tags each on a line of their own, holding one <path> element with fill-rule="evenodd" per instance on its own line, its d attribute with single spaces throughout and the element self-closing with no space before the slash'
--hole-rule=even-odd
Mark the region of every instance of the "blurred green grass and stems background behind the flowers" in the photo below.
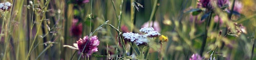
<svg viewBox="0 0 256 60">
<path fill-rule="evenodd" d="M 151 18 L 152 21 L 159 22 L 158 27 L 161 29 L 159 33 L 167 36 L 168 42 L 163 43 L 163 50 L 155 50 L 159 48 L 159 44 L 156 45 L 157 47 L 152 47 L 148 59 L 159 59 L 159 54 L 163 59 L 189 59 L 193 53 L 200 53 L 206 22 L 196 21 L 203 13 L 199 14 L 199 19 L 194 22 L 191 18 L 195 16 L 185 13 L 197 8 L 197 0 L 90 0 L 89 3 L 82 4 L 73 1 L 76 0 L 32 0 L 33 4 L 30 4 L 29 0 L 1 0 L 0 3 L 13 4 L 12 9 L 6 14 L 1 12 L 0 26 L 5 20 L 4 17 L 10 22 L 6 23 L 9 25 L 8 29 L 0 29 L 4 31 L 1 34 L 0 59 L 71 59 L 73 55 L 74 59 L 78 59 L 80 52 L 63 45 L 73 46 L 79 38 L 89 36 L 90 32 L 106 20 L 115 27 L 124 25 L 128 32 L 139 33 L 142 25 Z M 232 3 L 233 0 L 229 2 Z M 219 30 L 208 32 L 202 57 L 209 58 L 215 51 L 216 59 L 256 59 L 256 50 L 253 46 L 256 37 L 256 1 L 236 0 L 236 2 L 241 2 L 243 5 L 241 16 L 232 16 L 231 21 L 245 26 L 247 33 L 242 33 L 238 37 L 230 35 L 218 38 L 219 32 L 224 31 L 228 22 L 222 24 Z M 132 3 L 136 5 L 139 3 L 143 8 L 136 6 L 139 8 L 137 10 L 131 5 Z M 154 8 L 155 3 L 157 3 L 156 8 Z M 154 10 L 155 14 L 151 17 Z M 92 20 L 90 16 L 93 16 Z M 82 35 L 71 35 L 74 19 L 82 23 Z M 121 20 L 120 25 L 119 20 Z M 115 29 L 103 26 L 94 35 L 98 36 L 100 45 L 90 59 L 109 59 L 109 57 L 116 59 L 124 53 L 116 39 Z M 223 44 L 223 41 L 230 44 Z M 126 49 L 130 49 L 129 44 L 125 45 Z M 223 47 L 220 47 L 221 45 Z"/>
</svg>

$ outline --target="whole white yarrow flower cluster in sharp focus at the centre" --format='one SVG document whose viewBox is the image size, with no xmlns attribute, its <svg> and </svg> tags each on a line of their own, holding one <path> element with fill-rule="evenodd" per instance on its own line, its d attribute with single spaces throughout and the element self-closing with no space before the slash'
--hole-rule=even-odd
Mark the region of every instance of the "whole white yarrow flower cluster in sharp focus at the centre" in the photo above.
<svg viewBox="0 0 256 60">
<path fill-rule="evenodd" d="M 144 27 L 140 29 L 140 32 L 145 33 L 144 35 L 139 35 L 135 33 L 123 33 L 124 40 L 134 42 L 136 45 L 146 45 L 150 40 L 147 38 L 158 37 L 160 34 L 154 31 L 153 27 Z"/>
</svg>

